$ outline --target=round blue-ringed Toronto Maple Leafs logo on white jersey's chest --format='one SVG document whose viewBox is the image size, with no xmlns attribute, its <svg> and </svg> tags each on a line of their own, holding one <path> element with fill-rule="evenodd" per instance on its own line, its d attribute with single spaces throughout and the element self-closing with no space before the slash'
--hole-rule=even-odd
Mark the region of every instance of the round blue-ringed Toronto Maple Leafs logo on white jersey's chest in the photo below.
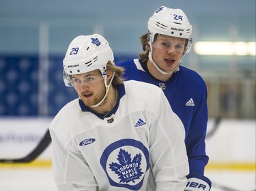
<svg viewBox="0 0 256 191">
<path fill-rule="evenodd" d="M 140 190 L 150 169 L 149 149 L 134 139 L 120 139 L 108 145 L 100 164 L 113 187 Z"/>
</svg>

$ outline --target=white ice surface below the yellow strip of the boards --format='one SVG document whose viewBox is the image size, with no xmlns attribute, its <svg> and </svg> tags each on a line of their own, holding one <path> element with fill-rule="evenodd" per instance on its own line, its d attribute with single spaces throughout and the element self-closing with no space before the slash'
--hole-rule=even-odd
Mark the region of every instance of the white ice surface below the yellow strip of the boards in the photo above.
<svg viewBox="0 0 256 191">
<path fill-rule="evenodd" d="M 12 164 L 15 166 L 16 164 Z M 206 171 L 212 179 L 211 191 L 253 191 L 255 171 Z M 225 188 L 226 187 L 226 188 Z M 50 167 L 0 168 L 1 191 L 57 191 Z"/>
</svg>

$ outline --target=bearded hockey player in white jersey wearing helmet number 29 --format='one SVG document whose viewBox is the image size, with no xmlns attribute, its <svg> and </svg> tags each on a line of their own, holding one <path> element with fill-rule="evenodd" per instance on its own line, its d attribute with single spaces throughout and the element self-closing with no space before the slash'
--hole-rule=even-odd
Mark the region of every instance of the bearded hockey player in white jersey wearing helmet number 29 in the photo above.
<svg viewBox="0 0 256 191">
<path fill-rule="evenodd" d="M 162 90 L 123 82 L 98 34 L 78 36 L 63 60 L 63 79 L 79 95 L 50 125 L 59 191 L 184 190 L 184 127 Z"/>
</svg>

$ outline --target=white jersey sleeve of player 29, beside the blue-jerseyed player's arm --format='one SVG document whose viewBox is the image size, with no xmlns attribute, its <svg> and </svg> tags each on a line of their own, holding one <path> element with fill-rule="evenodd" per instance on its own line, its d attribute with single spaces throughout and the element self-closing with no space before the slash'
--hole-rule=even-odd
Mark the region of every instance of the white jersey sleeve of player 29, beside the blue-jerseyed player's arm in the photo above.
<svg viewBox="0 0 256 191">
<path fill-rule="evenodd" d="M 188 175 L 184 127 L 177 121 L 163 93 L 157 108 L 156 118 L 150 124 L 150 155 L 156 191 L 184 190 Z"/>
</svg>

